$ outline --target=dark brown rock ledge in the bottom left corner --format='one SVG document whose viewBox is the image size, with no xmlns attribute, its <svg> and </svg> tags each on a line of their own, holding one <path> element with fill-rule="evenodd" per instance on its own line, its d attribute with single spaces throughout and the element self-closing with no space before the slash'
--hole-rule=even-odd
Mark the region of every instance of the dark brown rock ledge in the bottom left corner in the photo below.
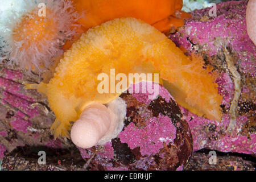
<svg viewBox="0 0 256 182">
<path fill-rule="evenodd" d="M 0 171 L 73 171 L 81 170 L 84 160 L 79 150 L 24 146 L 8 152 L 0 160 Z M 38 153 L 46 151 L 46 164 L 38 163 Z M 2 164 L 1 164 L 2 163 Z"/>
</svg>

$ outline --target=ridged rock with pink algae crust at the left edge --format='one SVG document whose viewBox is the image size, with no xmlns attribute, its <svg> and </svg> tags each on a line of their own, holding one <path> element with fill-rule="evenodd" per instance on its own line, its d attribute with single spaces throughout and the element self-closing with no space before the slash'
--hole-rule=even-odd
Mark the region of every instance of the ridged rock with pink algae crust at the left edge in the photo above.
<svg viewBox="0 0 256 182">
<path fill-rule="evenodd" d="M 24 82 L 39 81 L 36 74 L 0 64 L 0 143 L 8 152 L 25 145 L 73 146 L 69 140 L 54 140 L 49 127 L 55 116 L 48 109 L 46 98 L 35 90 L 24 88 Z"/>
</svg>

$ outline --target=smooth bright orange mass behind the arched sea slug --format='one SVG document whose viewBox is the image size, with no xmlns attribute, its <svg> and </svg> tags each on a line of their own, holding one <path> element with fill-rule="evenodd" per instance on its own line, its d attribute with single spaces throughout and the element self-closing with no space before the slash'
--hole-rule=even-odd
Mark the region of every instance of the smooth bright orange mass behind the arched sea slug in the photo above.
<svg viewBox="0 0 256 182">
<path fill-rule="evenodd" d="M 141 19 L 166 33 L 171 27 L 182 26 L 183 19 L 191 17 L 188 13 L 181 11 L 182 0 L 72 0 L 72 2 L 80 15 L 77 20 L 81 25 L 78 30 L 79 36 L 89 28 L 115 18 Z M 68 49 L 71 45 L 72 41 L 68 41 L 63 49 Z"/>
</svg>

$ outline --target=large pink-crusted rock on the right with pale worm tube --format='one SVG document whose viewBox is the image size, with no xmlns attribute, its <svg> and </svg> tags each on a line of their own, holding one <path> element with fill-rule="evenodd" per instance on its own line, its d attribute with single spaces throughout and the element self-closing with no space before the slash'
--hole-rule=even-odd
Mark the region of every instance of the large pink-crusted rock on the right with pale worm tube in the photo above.
<svg viewBox="0 0 256 182">
<path fill-rule="evenodd" d="M 200 53 L 216 75 L 223 97 L 222 121 L 216 122 L 181 108 L 193 135 L 194 151 L 256 152 L 255 57 L 256 47 L 246 32 L 247 1 L 217 4 L 217 16 L 208 9 L 191 13 L 184 26 L 169 36 L 188 54 Z M 234 128 L 228 131 L 230 122 Z"/>
</svg>

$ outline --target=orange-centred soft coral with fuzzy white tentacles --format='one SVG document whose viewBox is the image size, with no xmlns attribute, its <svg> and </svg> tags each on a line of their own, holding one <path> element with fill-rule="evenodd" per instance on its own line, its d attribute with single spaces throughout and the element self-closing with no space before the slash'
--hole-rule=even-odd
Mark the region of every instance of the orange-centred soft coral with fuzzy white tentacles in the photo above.
<svg viewBox="0 0 256 182">
<path fill-rule="evenodd" d="M 46 5 L 46 16 L 39 16 L 39 3 Z M 63 54 L 61 46 L 76 34 L 78 15 L 68 0 L 4 0 L 3 5 L 0 59 L 10 60 L 11 65 L 40 73 L 52 64 L 53 57 Z"/>
</svg>

